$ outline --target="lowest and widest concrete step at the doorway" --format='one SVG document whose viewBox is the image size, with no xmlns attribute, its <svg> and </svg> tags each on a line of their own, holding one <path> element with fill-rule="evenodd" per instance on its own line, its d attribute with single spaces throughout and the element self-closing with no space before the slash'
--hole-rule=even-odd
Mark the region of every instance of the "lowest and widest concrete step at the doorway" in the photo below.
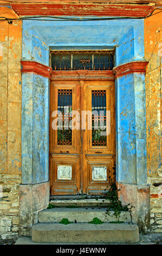
<svg viewBox="0 0 162 256">
<path fill-rule="evenodd" d="M 136 224 L 38 223 L 32 228 L 33 242 L 40 243 L 133 243 L 139 241 Z"/>
</svg>

